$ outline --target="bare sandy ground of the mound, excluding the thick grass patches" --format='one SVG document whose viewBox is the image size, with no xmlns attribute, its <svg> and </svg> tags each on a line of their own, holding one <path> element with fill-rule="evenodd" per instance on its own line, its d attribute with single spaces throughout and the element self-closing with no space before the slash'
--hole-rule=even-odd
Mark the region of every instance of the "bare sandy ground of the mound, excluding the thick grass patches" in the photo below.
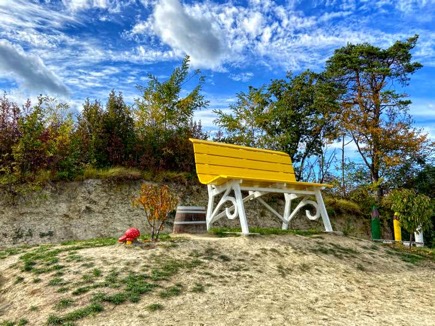
<svg viewBox="0 0 435 326">
<path fill-rule="evenodd" d="M 79 250 L 103 275 L 115 267 L 146 271 L 162 259 L 201 264 L 161 283 L 178 284 L 178 296 L 153 291 L 138 303 L 105 304 L 75 325 L 435 325 L 435 263 L 406 262 L 385 245 L 330 234 L 185 236 L 175 244 Z M 35 283 L 35 276 L 20 274 L 19 256 L 0 260 L 0 325 L 20 318 L 46 325 L 58 313 L 56 302 L 71 295 L 49 286 L 52 276 Z M 83 261 L 76 264 L 63 275 L 70 284 L 78 282 Z M 88 298 L 75 304 L 80 300 Z M 162 310 L 150 311 L 150 304 Z"/>
</svg>

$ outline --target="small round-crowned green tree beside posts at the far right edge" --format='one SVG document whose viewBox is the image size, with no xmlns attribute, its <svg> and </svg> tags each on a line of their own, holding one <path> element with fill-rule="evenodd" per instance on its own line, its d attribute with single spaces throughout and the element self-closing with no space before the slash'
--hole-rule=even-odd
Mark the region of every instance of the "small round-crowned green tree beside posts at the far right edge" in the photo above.
<svg viewBox="0 0 435 326">
<path fill-rule="evenodd" d="M 399 213 L 401 226 L 409 232 L 411 246 L 414 232 L 424 232 L 432 227 L 433 205 L 426 195 L 417 194 L 413 189 L 395 189 L 389 196 L 391 209 Z"/>
</svg>

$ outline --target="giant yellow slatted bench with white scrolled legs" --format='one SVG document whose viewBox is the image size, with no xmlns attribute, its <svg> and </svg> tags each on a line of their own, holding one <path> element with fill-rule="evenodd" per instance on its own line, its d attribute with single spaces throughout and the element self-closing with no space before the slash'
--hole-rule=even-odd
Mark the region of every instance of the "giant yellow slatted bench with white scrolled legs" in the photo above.
<svg viewBox="0 0 435 326">
<path fill-rule="evenodd" d="M 283 229 L 288 228 L 289 222 L 302 207 L 311 205 L 316 214 L 306 210 L 306 216 L 311 220 L 321 216 L 325 230 L 332 232 L 321 194 L 321 190 L 329 185 L 296 181 L 288 154 L 192 138 L 190 141 L 193 143 L 198 179 L 208 188 L 207 229 L 226 215 L 229 219 L 239 217 L 242 233 L 249 234 L 244 203 L 256 199 L 281 219 Z M 247 193 L 245 197 L 242 191 Z M 284 194 L 283 214 L 261 198 L 267 193 Z M 315 200 L 310 199 L 313 196 Z M 292 200 L 299 197 L 302 200 L 292 209 Z M 216 206 L 215 199 L 219 199 Z M 230 207 L 226 207 L 227 202 Z"/>
</svg>

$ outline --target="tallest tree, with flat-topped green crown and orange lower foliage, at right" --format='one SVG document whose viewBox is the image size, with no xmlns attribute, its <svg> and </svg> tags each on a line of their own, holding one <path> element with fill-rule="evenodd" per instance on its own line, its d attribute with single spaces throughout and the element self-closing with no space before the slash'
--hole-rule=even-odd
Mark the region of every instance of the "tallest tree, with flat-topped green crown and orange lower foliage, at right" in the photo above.
<svg viewBox="0 0 435 326">
<path fill-rule="evenodd" d="M 411 101 L 394 87 L 409 84 L 422 65 L 411 61 L 418 36 L 397 41 L 387 49 L 348 44 L 326 63 L 326 74 L 342 91 L 342 126 L 354 141 L 371 181 L 377 184 L 391 167 L 412 160 L 427 136 L 412 126 Z M 378 200 L 382 197 L 378 190 Z"/>
</svg>

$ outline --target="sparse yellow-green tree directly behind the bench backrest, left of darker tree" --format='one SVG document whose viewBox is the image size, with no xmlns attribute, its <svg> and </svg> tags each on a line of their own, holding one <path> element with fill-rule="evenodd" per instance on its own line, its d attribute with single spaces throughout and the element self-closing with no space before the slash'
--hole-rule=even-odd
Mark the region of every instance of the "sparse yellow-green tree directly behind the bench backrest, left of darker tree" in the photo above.
<svg viewBox="0 0 435 326">
<path fill-rule="evenodd" d="M 266 146 L 263 126 L 268 105 L 269 96 L 264 87 L 249 87 L 248 93 L 237 94 L 237 102 L 230 106 L 231 113 L 213 110 L 218 116 L 214 122 L 225 130 L 218 140 L 244 146 Z"/>
</svg>

